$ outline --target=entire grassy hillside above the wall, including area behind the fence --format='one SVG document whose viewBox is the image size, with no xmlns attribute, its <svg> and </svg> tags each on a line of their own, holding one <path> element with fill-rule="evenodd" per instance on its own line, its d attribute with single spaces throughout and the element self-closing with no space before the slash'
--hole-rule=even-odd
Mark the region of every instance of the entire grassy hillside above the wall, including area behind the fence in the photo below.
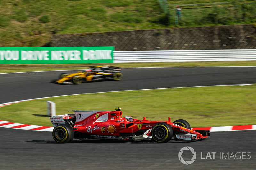
<svg viewBox="0 0 256 170">
<path fill-rule="evenodd" d="M 157 0 L 0 0 L 0 46 L 48 46 L 53 34 L 173 28 L 176 5 L 182 8 L 183 27 L 255 24 L 254 0 L 167 2 L 173 9 L 170 15 L 162 12 Z M 234 7 L 197 8 L 219 6 Z"/>
</svg>

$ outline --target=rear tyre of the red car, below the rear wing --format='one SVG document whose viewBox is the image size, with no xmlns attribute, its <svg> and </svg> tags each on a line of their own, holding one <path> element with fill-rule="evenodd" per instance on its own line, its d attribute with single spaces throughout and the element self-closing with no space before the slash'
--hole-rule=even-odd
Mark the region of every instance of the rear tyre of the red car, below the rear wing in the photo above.
<svg viewBox="0 0 256 170">
<path fill-rule="evenodd" d="M 74 130 L 68 124 L 60 124 L 52 131 L 53 139 L 58 143 L 68 143 L 74 138 Z"/>
</svg>

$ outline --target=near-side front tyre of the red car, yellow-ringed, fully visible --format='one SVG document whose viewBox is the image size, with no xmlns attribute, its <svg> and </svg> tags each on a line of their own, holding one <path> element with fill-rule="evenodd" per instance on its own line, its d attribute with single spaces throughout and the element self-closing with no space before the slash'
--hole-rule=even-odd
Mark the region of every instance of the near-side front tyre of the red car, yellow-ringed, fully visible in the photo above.
<svg viewBox="0 0 256 170">
<path fill-rule="evenodd" d="M 166 143 L 172 139 L 173 131 L 167 123 L 157 123 L 151 132 L 152 138 L 157 143 Z"/>
</svg>

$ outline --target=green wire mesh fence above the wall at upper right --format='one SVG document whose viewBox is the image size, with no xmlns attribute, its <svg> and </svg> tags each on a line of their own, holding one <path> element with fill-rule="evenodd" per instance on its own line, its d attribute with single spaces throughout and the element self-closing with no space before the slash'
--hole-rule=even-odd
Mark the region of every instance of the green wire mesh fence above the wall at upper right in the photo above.
<svg viewBox="0 0 256 170">
<path fill-rule="evenodd" d="M 255 23 L 256 2 L 237 2 L 180 5 L 181 16 L 176 6 L 169 5 L 170 24 L 182 26 L 231 25 Z"/>
</svg>

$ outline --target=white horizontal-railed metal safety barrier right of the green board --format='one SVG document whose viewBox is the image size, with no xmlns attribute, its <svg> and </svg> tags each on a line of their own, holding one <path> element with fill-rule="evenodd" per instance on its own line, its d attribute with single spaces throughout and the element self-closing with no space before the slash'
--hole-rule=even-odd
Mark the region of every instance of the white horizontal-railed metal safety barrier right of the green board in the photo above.
<svg viewBox="0 0 256 170">
<path fill-rule="evenodd" d="M 256 49 L 114 51 L 114 63 L 254 61 Z"/>
</svg>

